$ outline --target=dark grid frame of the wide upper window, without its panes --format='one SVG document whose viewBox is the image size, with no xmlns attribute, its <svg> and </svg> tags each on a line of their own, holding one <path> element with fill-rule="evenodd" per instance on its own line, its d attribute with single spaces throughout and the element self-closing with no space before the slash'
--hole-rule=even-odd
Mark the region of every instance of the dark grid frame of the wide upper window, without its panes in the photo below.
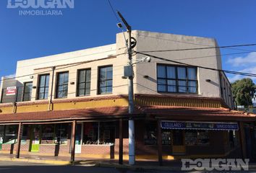
<svg viewBox="0 0 256 173">
<path fill-rule="evenodd" d="M 164 66 L 165 71 L 166 71 L 166 77 L 158 77 L 158 66 Z M 167 67 L 174 67 L 175 68 L 175 79 L 174 78 L 168 78 L 168 73 L 167 73 Z M 186 70 L 186 79 L 179 79 L 178 78 L 178 68 L 185 68 Z M 195 74 L 196 74 L 196 79 L 188 79 L 188 68 L 195 68 Z M 198 94 L 198 75 L 197 75 L 197 68 L 193 66 L 179 66 L 179 65 L 174 65 L 174 64 L 165 64 L 165 63 L 157 63 L 156 64 L 156 78 L 157 78 L 157 92 L 159 93 L 176 93 L 176 94 Z M 159 91 L 158 89 L 158 79 L 161 80 L 166 80 L 166 84 L 160 84 L 162 86 L 166 87 L 166 91 L 162 92 Z M 176 85 L 168 85 L 168 80 L 173 80 L 176 82 Z M 186 81 L 186 90 L 187 92 L 179 92 L 179 81 Z M 195 81 L 196 86 L 189 86 L 189 81 Z M 176 86 L 176 92 L 168 92 L 168 86 Z M 184 86 L 182 86 L 184 87 Z M 196 88 L 196 92 L 189 92 L 189 87 L 194 87 Z"/>
</svg>

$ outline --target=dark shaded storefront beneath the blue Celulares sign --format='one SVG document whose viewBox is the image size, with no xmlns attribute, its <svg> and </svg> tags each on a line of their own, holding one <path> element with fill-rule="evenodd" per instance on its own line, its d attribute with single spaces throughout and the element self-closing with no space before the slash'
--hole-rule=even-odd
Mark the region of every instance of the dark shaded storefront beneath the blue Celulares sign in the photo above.
<svg viewBox="0 0 256 173">
<path fill-rule="evenodd" d="M 137 154 L 161 148 L 163 159 L 179 158 L 209 158 L 225 157 L 232 151 L 241 154 L 239 142 L 239 128 L 237 123 L 209 123 L 193 121 L 159 120 L 161 123 L 161 145 L 157 139 L 157 122 L 145 122 L 144 141 L 140 140 L 143 134 L 137 134 L 140 146 Z M 233 125 L 229 128 L 215 128 L 215 125 Z"/>
</svg>

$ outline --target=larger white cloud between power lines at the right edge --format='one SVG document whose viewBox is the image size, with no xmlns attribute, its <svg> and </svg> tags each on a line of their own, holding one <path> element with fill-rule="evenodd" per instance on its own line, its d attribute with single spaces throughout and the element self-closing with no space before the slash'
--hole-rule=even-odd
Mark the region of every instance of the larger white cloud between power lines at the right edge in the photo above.
<svg viewBox="0 0 256 173">
<path fill-rule="evenodd" d="M 256 52 L 249 53 L 245 57 L 236 57 L 229 58 L 227 63 L 231 64 L 231 66 L 248 66 L 256 63 Z"/>
</svg>

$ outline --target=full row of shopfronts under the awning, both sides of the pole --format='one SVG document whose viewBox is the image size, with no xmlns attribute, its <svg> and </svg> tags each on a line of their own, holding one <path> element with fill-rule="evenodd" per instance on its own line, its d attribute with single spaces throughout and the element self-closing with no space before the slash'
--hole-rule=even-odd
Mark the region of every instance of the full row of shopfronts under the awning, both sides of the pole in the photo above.
<svg viewBox="0 0 256 173">
<path fill-rule="evenodd" d="M 128 130 L 127 119 L 3 124 L 0 154 L 127 160 Z M 135 119 L 136 159 L 255 159 L 254 143 L 254 123 Z"/>
</svg>

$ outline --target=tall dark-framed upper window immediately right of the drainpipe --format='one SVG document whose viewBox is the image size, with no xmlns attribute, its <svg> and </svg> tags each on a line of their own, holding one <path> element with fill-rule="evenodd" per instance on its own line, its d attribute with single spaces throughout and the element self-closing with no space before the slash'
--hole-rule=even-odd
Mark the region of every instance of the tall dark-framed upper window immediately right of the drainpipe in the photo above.
<svg viewBox="0 0 256 173">
<path fill-rule="evenodd" d="M 69 86 L 69 72 L 61 72 L 57 76 L 56 98 L 67 97 Z"/>
</svg>

